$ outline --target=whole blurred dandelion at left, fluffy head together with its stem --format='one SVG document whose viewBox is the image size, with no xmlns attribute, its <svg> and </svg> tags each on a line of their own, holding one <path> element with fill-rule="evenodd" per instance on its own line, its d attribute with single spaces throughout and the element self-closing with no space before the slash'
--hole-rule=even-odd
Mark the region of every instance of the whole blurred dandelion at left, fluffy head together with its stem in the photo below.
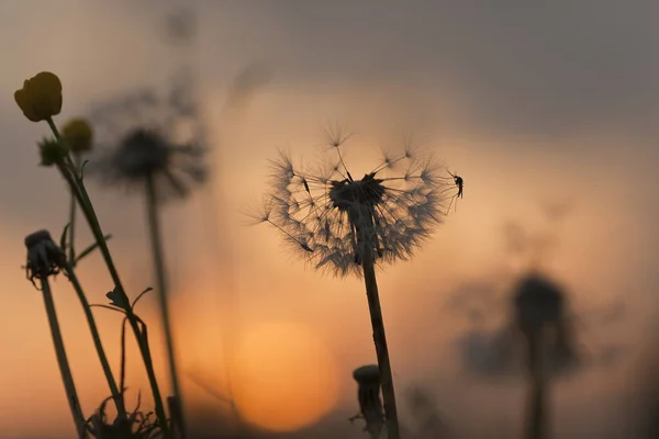
<svg viewBox="0 0 659 439">
<path fill-rule="evenodd" d="M 202 146 L 204 127 L 197 106 L 192 85 L 180 81 L 175 82 L 167 99 L 152 92 L 133 93 L 98 108 L 91 116 L 99 137 L 112 147 L 90 164 L 90 173 L 108 184 L 139 189 L 145 193 L 156 292 L 174 393 L 169 403 L 170 408 L 181 414 L 177 416 L 177 424 L 183 437 L 186 427 L 171 334 L 159 207 L 163 202 L 187 198 L 192 189 L 206 180 L 205 148 Z"/>
</svg>

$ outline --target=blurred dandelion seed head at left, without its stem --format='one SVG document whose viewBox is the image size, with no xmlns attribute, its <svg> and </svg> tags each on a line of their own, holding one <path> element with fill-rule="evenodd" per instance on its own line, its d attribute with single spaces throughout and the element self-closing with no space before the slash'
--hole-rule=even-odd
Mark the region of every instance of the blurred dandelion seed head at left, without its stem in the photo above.
<svg viewBox="0 0 659 439">
<path fill-rule="evenodd" d="M 169 100 L 135 93 L 97 109 L 90 119 L 112 147 L 99 151 L 89 171 L 127 189 L 144 188 L 152 178 L 159 201 L 183 198 L 203 183 L 202 127 L 183 91 L 175 88 Z"/>
</svg>

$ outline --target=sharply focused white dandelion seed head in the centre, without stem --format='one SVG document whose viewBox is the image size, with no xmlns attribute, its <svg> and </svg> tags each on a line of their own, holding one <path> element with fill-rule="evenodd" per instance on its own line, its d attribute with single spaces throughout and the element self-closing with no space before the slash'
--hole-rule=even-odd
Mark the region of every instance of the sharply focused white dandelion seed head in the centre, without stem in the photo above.
<svg viewBox="0 0 659 439">
<path fill-rule="evenodd" d="M 299 169 L 280 154 L 272 161 L 272 191 L 256 218 L 279 228 L 316 269 L 337 275 L 359 275 L 367 252 L 379 264 L 411 257 L 440 223 L 444 193 L 451 189 L 432 156 L 411 143 L 355 179 L 340 154 L 349 138 L 331 133 L 335 158 L 316 170 Z"/>
</svg>

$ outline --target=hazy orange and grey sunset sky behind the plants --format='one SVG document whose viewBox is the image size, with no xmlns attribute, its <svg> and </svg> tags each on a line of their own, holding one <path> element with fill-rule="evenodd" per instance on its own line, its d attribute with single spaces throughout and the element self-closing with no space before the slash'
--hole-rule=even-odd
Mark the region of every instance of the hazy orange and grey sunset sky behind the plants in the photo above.
<svg viewBox="0 0 659 439">
<path fill-rule="evenodd" d="M 35 143 L 47 125 L 29 122 L 13 92 L 40 71 L 56 72 L 64 85 L 56 122 L 64 124 L 118 93 L 163 90 L 185 63 L 199 75 L 217 176 L 213 188 L 164 211 L 178 351 L 186 376 L 194 376 L 181 379 L 190 405 L 226 413 L 196 381 L 227 394 L 231 375 L 250 423 L 298 430 L 327 421 L 342 437 L 364 437 L 345 421 L 358 410 L 351 371 L 376 362 L 361 280 L 314 272 L 286 251 L 276 229 L 245 226 L 242 213 L 268 189 L 278 148 L 313 162 L 321 124 L 340 119 L 357 127 L 345 157 L 355 169 L 373 168 L 378 147 L 395 142 L 398 127 L 411 128 L 466 181 L 457 211 L 417 256 L 378 273 L 403 416 L 405 391 L 421 385 L 467 437 L 518 434 L 523 380 L 473 378 L 460 357 L 477 330 L 469 292 L 505 293 L 525 267 L 505 251 L 503 226 L 513 222 L 557 235 L 545 268 L 569 290 L 592 353 L 577 379 L 556 387 L 557 437 L 625 437 L 628 413 L 621 410 L 635 401 L 640 384 L 633 379 L 659 309 L 659 3 L 181 3 L 198 14 L 187 49 L 161 36 L 174 0 L 0 5 L 1 438 L 72 431 L 43 300 L 21 270 L 24 236 L 47 228 L 58 238 L 68 195 L 54 169 L 37 166 Z M 232 81 L 249 66 L 260 66 L 267 80 L 231 106 Z M 153 282 L 142 199 L 92 181 L 89 188 L 134 296 Z M 549 225 L 544 205 L 561 202 L 568 215 Z M 85 224 L 79 230 L 81 248 L 91 236 Z M 100 257 L 78 271 L 90 301 L 103 303 L 111 282 Z M 108 390 L 66 278 L 54 289 L 90 415 Z M 484 308 L 488 322 L 504 318 L 504 300 Z M 157 327 L 155 301 L 141 306 Z M 608 318 L 612 309 L 622 317 Z M 121 319 L 96 315 L 118 370 Z M 158 331 L 150 333 L 165 385 Z M 613 348 L 622 352 L 614 361 L 597 360 Z M 131 351 L 131 404 L 138 389 L 150 404 L 139 361 Z"/>
</svg>

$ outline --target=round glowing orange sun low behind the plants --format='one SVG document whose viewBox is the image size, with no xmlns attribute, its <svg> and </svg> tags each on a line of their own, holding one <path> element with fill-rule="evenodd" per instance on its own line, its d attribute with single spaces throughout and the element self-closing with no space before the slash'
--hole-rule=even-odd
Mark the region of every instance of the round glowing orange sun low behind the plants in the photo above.
<svg viewBox="0 0 659 439">
<path fill-rule="evenodd" d="M 242 416 L 261 428 L 292 431 L 328 413 L 338 396 L 330 349 L 308 327 L 268 324 L 238 342 L 234 397 Z"/>
</svg>

